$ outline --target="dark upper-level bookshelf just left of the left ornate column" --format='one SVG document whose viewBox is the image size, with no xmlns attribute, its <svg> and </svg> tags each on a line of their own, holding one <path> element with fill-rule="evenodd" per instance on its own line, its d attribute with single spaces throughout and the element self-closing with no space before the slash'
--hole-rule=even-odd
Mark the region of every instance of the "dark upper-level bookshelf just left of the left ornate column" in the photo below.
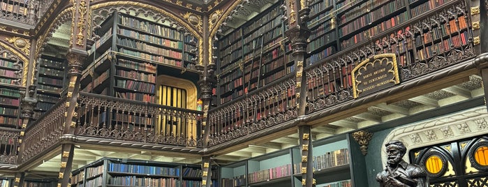
<svg viewBox="0 0 488 187">
<path fill-rule="evenodd" d="M 50 110 L 59 101 L 66 79 L 66 61 L 42 55 L 38 61 L 37 106 L 34 118 Z"/>
</svg>

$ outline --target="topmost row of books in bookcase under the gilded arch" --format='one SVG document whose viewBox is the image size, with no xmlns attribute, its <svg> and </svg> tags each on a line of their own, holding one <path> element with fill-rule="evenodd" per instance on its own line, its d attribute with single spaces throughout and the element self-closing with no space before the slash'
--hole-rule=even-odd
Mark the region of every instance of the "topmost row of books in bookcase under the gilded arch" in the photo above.
<svg viewBox="0 0 488 187">
<path fill-rule="evenodd" d="M 174 40 L 182 40 L 182 33 L 176 29 L 163 26 L 161 24 L 155 24 L 153 22 L 140 20 L 135 17 L 128 17 L 126 15 L 119 15 L 119 23 L 126 27 L 132 27 L 135 29 L 140 29 L 147 33 L 154 33 L 158 36 L 163 36 L 165 38 L 171 38 Z"/>
</svg>

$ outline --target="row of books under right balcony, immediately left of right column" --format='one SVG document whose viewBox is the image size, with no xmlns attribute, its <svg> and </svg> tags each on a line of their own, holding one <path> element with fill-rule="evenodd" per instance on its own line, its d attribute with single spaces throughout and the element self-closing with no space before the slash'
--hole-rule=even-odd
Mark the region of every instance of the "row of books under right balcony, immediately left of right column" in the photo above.
<svg viewBox="0 0 488 187">
<path fill-rule="evenodd" d="M 291 176 L 291 165 L 281 165 L 279 167 L 273 167 L 267 170 L 260 170 L 257 172 L 249 173 L 249 183 L 257 183 L 260 181 L 268 181 L 272 179 L 277 179 L 281 177 Z"/>
</svg>

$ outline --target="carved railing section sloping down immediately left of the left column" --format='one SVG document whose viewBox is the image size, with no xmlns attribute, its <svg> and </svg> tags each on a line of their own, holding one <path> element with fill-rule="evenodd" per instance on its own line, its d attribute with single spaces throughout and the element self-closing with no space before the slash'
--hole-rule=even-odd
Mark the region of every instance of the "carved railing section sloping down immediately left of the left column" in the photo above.
<svg viewBox="0 0 488 187">
<path fill-rule="evenodd" d="M 57 144 L 64 131 L 64 113 L 66 107 L 63 105 L 65 99 L 60 100 L 50 110 L 45 112 L 38 120 L 29 124 L 25 130 L 25 137 L 22 141 L 24 150 L 22 151 L 22 163 L 38 156 L 42 151 Z"/>
</svg>

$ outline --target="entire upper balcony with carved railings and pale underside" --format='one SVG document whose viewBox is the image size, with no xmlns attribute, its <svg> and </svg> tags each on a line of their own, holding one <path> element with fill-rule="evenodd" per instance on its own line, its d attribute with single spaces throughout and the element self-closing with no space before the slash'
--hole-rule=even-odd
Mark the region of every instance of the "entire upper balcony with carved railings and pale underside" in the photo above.
<svg viewBox="0 0 488 187">
<path fill-rule="evenodd" d="M 202 112 L 80 93 L 73 114 L 75 133 L 65 133 L 72 123 L 65 121 L 66 99 L 61 100 L 26 129 L 18 164 L 29 167 L 33 160 L 59 154 L 62 142 L 87 149 L 242 160 L 297 145 L 300 125 L 312 126 L 316 140 L 396 126 L 399 119 L 423 119 L 434 110 L 480 105 L 484 92 L 481 77 L 475 75 L 473 17 L 467 9 L 464 1 L 449 1 L 306 67 L 302 75 L 307 84 L 300 85 L 306 92 L 301 97 L 293 73 L 213 108 L 206 123 L 208 142 L 202 142 L 205 135 L 200 134 Z M 351 71 L 375 57 L 395 61 L 399 84 L 357 96 Z M 300 98 L 306 105 L 297 105 Z M 303 107 L 306 113 L 298 116 Z M 207 149 L 202 147 L 205 143 Z"/>
</svg>

